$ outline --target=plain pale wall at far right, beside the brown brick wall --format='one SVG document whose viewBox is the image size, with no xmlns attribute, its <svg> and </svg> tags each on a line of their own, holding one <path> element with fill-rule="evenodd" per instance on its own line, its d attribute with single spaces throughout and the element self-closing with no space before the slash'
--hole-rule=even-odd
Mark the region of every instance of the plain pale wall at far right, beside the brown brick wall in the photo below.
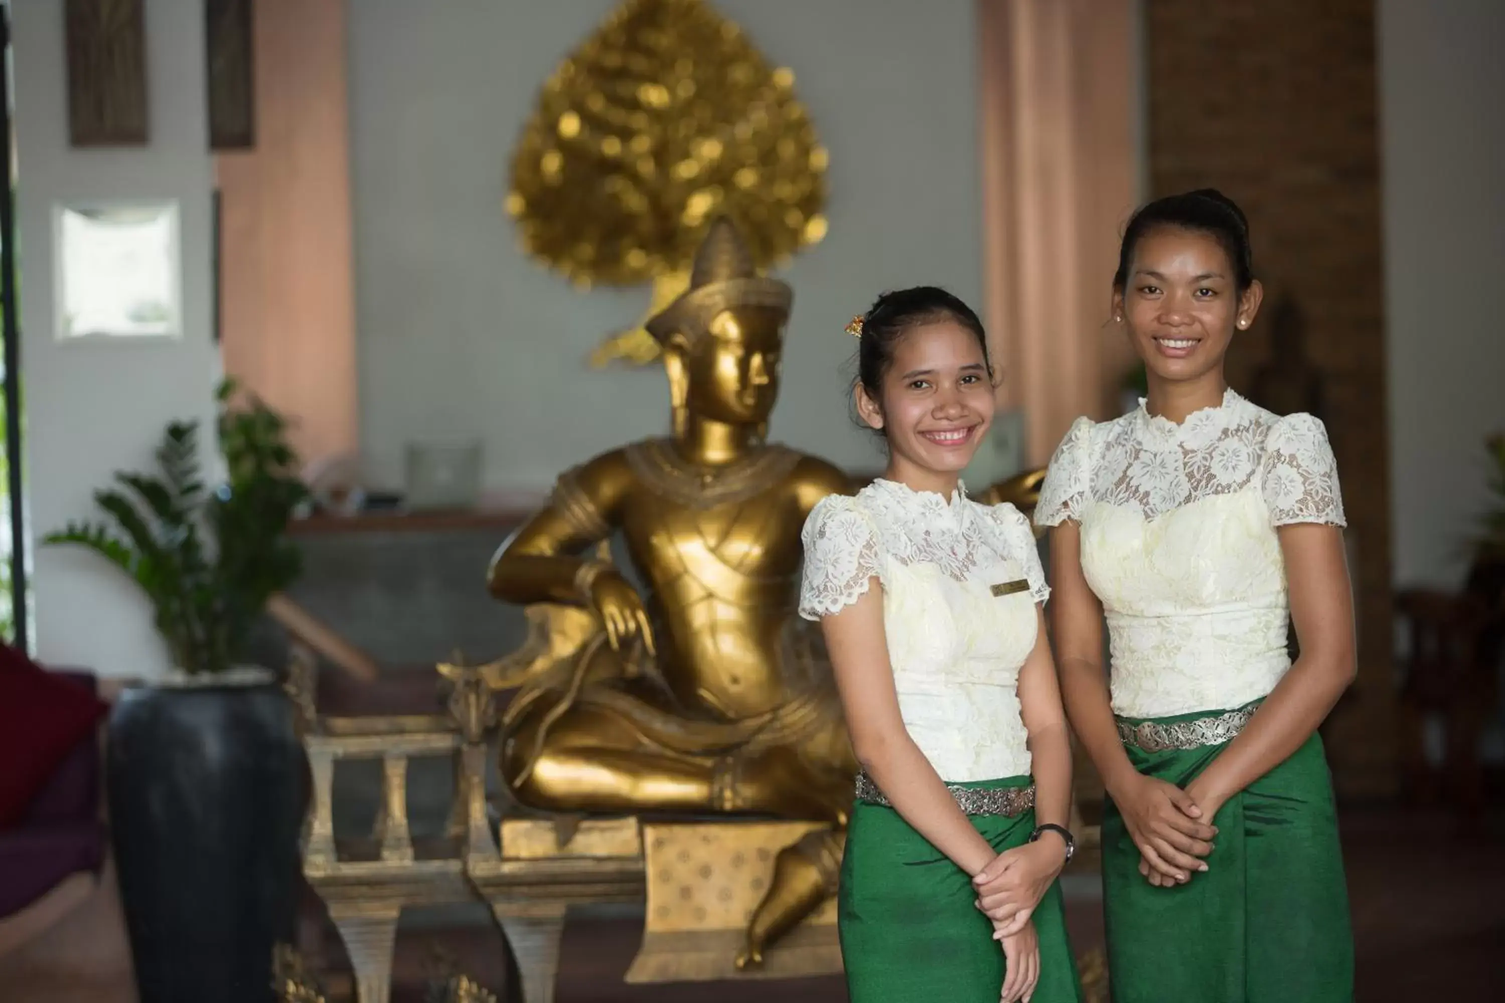
<svg viewBox="0 0 1505 1003">
<path fill-rule="evenodd" d="M 1505 432 L 1505 3 L 1379 15 L 1394 577 L 1452 586 Z"/>
</svg>

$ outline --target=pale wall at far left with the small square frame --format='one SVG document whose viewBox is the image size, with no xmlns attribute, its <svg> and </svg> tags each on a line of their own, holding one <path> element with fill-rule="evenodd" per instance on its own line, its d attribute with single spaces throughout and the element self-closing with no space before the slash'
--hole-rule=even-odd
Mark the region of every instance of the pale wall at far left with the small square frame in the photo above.
<svg viewBox="0 0 1505 1003">
<path fill-rule="evenodd" d="M 93 489 L 117 469 L 147 468 L 173 418 L 211 421 L 205 429 L 209 453 L 218 368 L 211 337 L 203 3 L 147 0 L 150 144 L 110 150 L 68 143 L 63 9 L 63 3 L 38 0 L 11 6 L 33 541 L 71 519 L 95 517 Z M 182 340 L 62 344 L 53 338 L 53 205 L 96 198 L 181 202 Z M 152 675 L 166 666 L 150 611 L 134 583 L 74 549 L 39 547 L 35 567 L 35 647 L 42 660 L 101 675 Z"/>
</svg>

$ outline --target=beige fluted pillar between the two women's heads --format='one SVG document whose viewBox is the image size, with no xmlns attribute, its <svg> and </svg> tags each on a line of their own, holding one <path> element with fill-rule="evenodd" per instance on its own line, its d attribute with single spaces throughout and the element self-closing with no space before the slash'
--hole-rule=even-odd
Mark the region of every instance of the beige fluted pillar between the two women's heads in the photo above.
<svg viewBox="0 0 1505 1003">
<path fill-rule="evenodd" d="M 1136 6 L 978 0 L 987 322 L 1031 465 L 1078 415 L 1117 414 L 1132 364 L 1105 325 L 1139 194 Z"/>
</svg>

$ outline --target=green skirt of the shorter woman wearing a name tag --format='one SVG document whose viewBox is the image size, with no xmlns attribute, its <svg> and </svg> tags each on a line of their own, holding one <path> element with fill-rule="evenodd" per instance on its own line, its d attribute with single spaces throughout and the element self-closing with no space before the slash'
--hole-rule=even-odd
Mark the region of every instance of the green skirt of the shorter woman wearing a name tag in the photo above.
<svg viewBox="0 0 1505 1003">
<path fill-rule="evenodd" d="M 1025 786 L 1029 777 L 957 786 Z M 998 851 L 1020 847 L 1034 812 L 1014 818 L 974 815 L 977 832 Z M 1004 949 L 978 911 L 962 868 L 891 808 L 858 801 L 841 859 L 838 929 L 852 1003 L 998 1003 Z M 1061 886 L 1034 913 L 1040 982 L 1034 1003 L 1081 1003 L 1082 989 L 1066 937 Z"/>
</svg>

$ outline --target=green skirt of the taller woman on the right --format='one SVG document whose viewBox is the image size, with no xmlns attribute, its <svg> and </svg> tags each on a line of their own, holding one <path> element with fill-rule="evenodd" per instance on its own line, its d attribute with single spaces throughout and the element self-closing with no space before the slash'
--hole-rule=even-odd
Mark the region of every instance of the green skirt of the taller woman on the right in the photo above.
<svg viewBox="0 0 1505 1003">
<path fill-rule="evenodd" d="M 1225 744 L 1124 750 L 1139 773 L 1186 786 Z M 1139 874 L 1139 850 L 1118 809 L 1112 800 L 1105 805 L 1103 911 L 1114 1003 L 1353 1000 L 1348 890 L 1321 738 L 1314 734 L 1230 798 L 1213 824 L 1207 871 L 1157 889 Z"/>
</svg>

